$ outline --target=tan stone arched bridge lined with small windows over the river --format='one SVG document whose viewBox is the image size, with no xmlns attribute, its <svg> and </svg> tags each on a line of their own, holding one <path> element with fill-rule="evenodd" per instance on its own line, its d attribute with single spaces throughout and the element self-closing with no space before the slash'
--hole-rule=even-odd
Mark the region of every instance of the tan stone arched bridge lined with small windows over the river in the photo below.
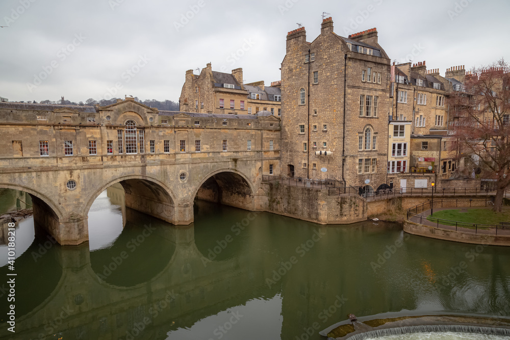
<svg viewBox="0 0 510 340">
<path fill-rule="evenodd" d="M 175 225 L 195 197 L 265 210 L 262 175 L 279 168 L 274 116 L 0 103 L 0 189 L 29 193 L 34 219 L 61 245 L 88 240 L 88 211 L 113 184 L 125 205 Z"/>
</svg>

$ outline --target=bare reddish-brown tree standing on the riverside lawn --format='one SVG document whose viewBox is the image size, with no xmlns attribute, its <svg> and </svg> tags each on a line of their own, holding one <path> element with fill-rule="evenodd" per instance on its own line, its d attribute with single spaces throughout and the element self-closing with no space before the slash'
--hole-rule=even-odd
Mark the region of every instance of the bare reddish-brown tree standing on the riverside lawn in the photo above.
<svg viewBox="0 0 510 340">
<path fill-rule="evenodd" d="M 458 117 L 454 137 L 482 175 L 496 179 L 494 211 L 501 212 L 510 184 L 510 65 L 501 59 L 473 69 L 464 85 L 450 97 Z"/>
</svg>

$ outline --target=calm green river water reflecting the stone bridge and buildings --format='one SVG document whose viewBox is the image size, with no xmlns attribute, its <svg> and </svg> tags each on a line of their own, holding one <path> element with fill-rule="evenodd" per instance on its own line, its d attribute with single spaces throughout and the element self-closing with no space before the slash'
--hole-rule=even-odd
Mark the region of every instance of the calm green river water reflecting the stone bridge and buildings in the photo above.
<svg viewBox="0 0 510 340">
<path fill-rule="evenodd" d="M 15 338 L 295 339 L 347 313 L 510 315 L 504 247 L 206 202 L 197 202 L 195 223 L 172 226 L 126 210 L 118 189 L 94 203 L 88 244 L 42 253 L 44 236 L 20 233 L 29 246 L 16 259 Z M 0 337 L 9 338 L 6 329 L 0 325 Z"/>
</svg>

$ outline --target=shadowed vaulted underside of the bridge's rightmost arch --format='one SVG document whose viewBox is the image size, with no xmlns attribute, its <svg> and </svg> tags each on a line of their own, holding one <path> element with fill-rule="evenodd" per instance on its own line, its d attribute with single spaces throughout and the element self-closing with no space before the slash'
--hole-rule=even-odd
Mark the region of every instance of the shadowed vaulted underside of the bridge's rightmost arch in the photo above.
<svg viewBox="0 0 510 340">
<path fill-rule="evenodd" d="M 204 176 L 195 187 L 193 197 L 252 211 L 256 191 L 242 172 L 227 168 Z"/>
</svg>

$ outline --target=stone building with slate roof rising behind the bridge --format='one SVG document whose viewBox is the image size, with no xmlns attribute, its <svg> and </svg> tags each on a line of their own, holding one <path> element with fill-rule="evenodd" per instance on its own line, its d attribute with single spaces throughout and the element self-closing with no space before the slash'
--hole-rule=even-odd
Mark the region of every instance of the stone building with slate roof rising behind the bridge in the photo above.
<svg viewBox="0 0 510 340">
<path fill-rule="evenodd" d="M 281 111 L 279 87 L 264 87 L 264 82 L 243 84 L 243 69 L 232 73 L 212 70 L 211 63 L 199 75 L 186 71 L 179 98 L 180 110 L 194 113 L 256 114 Z"/>
</svg>

